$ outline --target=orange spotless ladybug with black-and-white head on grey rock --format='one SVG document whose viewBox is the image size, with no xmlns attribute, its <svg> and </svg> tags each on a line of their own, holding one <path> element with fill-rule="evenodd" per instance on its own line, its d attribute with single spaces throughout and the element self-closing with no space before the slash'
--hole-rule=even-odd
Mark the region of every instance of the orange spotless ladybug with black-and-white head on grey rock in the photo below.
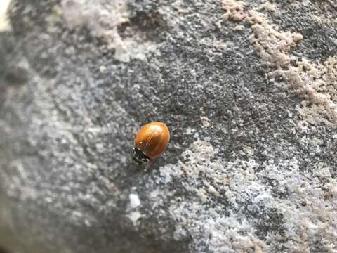
<svg viewBox="0 0 337 253">
<path fill-rule="evenodd" d="M 146 163 L 159 157 L 167 148 L 170 141 L 170 131 L 162 122 L 145 124 L 135 138 L 133 160 Z"/>
</svg>

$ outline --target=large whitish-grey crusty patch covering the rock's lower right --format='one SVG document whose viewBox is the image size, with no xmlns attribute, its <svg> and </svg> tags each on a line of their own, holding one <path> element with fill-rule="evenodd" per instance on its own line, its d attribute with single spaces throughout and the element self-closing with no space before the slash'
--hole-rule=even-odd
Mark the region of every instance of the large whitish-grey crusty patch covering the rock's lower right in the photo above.
<svg viewBox="0 0 337 253">
<path fill-rule="evenodd" d="M 190 193 L 182 199 L 174 191 L 168 196 L 165 188 L 155 190 L 156 200 L 170 198 L 174 236 L 192 238 L 191 252 L 272 252 L 280 244 L 285 252 L 309 252 L 317 240 L 322 249 L 337 250 L 337 181 L 331 168 L 315 164 L 313 174 L 303 174 L 296 158 L 259 164 L 253 155 L 233 162 L 215 155 L 209 141 L 195 141 L 181 161 L 161 167 L 154 181 L 179 181 Z M 272 213 L 282 218 L 272 220 Z M 263 238 L 261 224 L 267 229 Z"/>
</svg>

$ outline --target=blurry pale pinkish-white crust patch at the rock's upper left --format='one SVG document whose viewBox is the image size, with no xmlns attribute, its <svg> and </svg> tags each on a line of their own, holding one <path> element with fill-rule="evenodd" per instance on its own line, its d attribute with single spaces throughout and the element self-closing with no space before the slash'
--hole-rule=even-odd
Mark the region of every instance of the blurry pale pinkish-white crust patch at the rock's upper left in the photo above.
<svg viewBox="0 0 337 253">
<path fill-rule="evenodd" d="M 62 13 L 70 29 L 87 27 L 91 34 L 114 49 L 115 58 L 128 62 L 131 58 L 145 60 L 156 46 L 134 32 L 133 37 L 122 39 L 118 28 L 129 21 L 128 1 L 124 0 L 62 0 Z"/>
</svg>

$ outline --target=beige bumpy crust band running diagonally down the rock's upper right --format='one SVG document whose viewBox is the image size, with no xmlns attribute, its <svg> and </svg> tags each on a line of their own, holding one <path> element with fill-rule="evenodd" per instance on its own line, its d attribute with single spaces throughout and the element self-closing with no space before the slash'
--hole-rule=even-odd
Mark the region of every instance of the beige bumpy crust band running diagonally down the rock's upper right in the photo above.
<svg viewBox="0 0 337 253">
<path fill-rule="evenodd" d="M 249 8 L 243 1 L 223 0 L 224 18 L 244 22 L 251 27 L 251 43 L 263 65 L 273 70 L 273 77 L 282 77 L 288 88 L 303 98 L 298 112 L 303 124 L 324 122 L 337 124 L 337 58 L 315 63 L 291 55 L 291 48 L 303 37 L 298 33 L 279 32 L 270 25 L 259 8 Z M 262 9 L 273 11 L 270 5 Z"/>
</svg>

